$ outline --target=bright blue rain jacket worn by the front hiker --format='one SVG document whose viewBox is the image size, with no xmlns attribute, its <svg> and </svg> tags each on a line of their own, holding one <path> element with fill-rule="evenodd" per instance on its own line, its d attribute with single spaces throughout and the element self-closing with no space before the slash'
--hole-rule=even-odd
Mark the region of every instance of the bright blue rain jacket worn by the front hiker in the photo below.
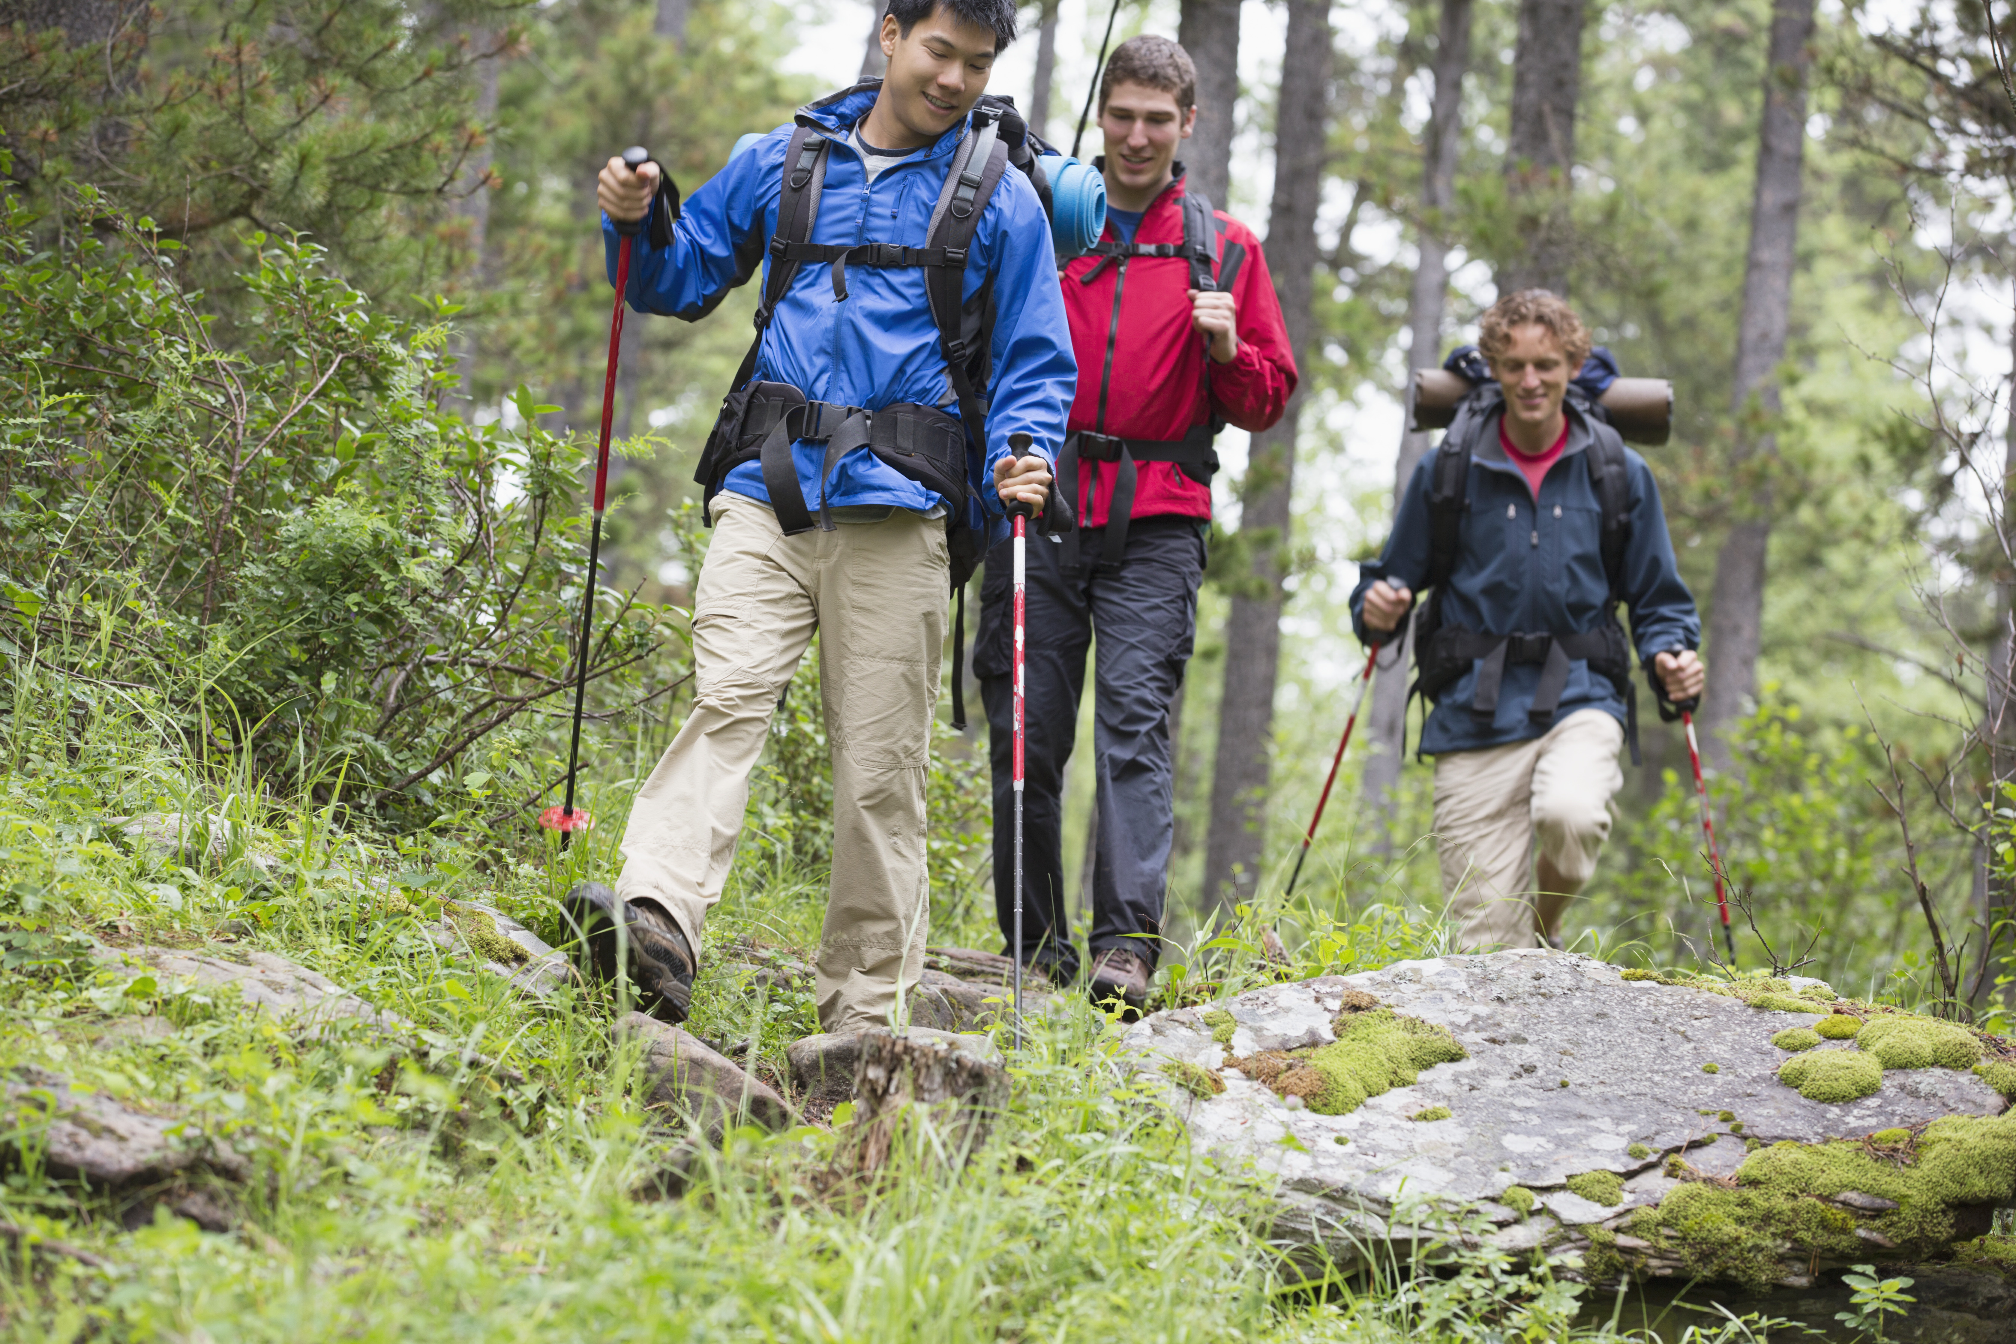
<svg viewBox="0 0 2016 1344">
<path fill-rule="evenodd" d="M 847 133 L 875 105 L 875 87 L 849 89 L 798 111 L 798 125 L 823 129 L 833 141 L 810 242 L 891 242 L 913 248 L 925 242 L 946 171 L 972 119 L 929 149 L 883 169 L 869 185 L 861 157 L 847 145 Z M 691 322 L 706 316 L 730 288 L 746 282 L 758 264 L 768 264 L 790 131 L 790 125 L 778 127 L 694 191 L 673 224 L 669 248 L 651 248 L 649 218 L 645 220 L 643 232 L 631 240 L 635 250 L 627 300 L 633 310 Z M 623 238 L 609 216 L 603 216 L 603 244 L 609 282 L 615 284 Z M 956 413 L 923 276 L 921 268 L 849 266 L 847 298 L 837 300 L 829 266 L 800 266 L 764 332 L 754 377 L 790 383 L 812 401 L 871 411 L 913 401 Z M 1006 536 L 992 480 L 994 463 L 1012 455 L 1008 435 L 1030 435 L 1034 451 L 1054 463 L 1079 379 L 1050 250 L 1050 224 L 1036 189 L 1012 167 L 1002 173 L 982 212 L 966 262 L 966 296 L 972 298 L 984 284 L 994 286 L 996 304 L 994 379 L 986 389 L 992 397 L 986 417 L 986 478 L 974 482 L 968 522 L 984 528 L 992 544 Z M 821 443 L 792 445 L 798 484 L 814 508 L 825 451 Z M 730 472 L 724 490 L 770 502 L 762 467 L 754 461 Z M 941 502 L 935 492 L 891 469 L 867 447 L 841 457 L 827 484 L 827 498 L 835 508 L 897 506 L 923 512 Z"/>
</svg>

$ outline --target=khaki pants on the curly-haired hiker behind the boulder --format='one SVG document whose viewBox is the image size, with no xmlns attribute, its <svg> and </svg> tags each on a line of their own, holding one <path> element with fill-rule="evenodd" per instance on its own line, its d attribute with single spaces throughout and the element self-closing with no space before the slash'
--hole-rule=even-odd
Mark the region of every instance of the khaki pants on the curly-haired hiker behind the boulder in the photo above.
<svg viewBox="0 0 2016 1344">
<path fill-rule="evenodd" d="M 1544 737 L 1435 758 L 1435 848 L 1462 951 L 1536 947 L 1597 870 L 1623 723 L 1579 709 Z M 1566 891 L 1536 891 L 1534 840 Z"/>
</svg>

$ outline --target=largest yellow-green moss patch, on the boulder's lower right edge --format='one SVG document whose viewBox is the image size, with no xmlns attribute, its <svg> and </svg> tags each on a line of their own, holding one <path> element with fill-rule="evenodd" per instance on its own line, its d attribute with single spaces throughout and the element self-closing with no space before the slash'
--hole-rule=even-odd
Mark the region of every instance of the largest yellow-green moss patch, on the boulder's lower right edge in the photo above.
<svg viewBox="0 0 2016 1344">
<path fill-rule="evenodd" d="M 1857 1058 L 1849 1052 L 1798 1056 Z M 1909 1138 L 1909 1132 L 1907 1132 Z M 1875 1195 L 1897 1207 L 1857 1215 L 1833 1197 Z M 1677 1253 L 1689 1271 L 1762 1290 L 1812 1255 L 1869 1257 L 1867 1227 L 1897 1255 L 1929 1255 L 1954 1233 L 1956 1205 L 2016 1199 L 2016 1114 L 1949 1116 L 1925 1126 L 1915 1147 L 1873 1143 L 1774 1143 L 1752 1153 L 1736 1185 L 1687 1181 L 1655 1209 L 1631 1215 L 1629 1231 Z"/>
</svg>

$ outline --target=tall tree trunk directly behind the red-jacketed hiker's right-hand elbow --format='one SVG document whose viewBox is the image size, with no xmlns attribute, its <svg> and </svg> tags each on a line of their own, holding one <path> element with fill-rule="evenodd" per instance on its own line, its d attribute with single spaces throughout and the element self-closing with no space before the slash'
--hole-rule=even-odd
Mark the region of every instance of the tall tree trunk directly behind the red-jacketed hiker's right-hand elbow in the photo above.
<svg viewBox="0 0 2016 1344">
<path fill-rule="evenodd" d="M 1274 123 L 1274 201 L 1266 250 L 1288 345 L 1304 365 L 1314 328 L 1316 206 L 1322 199 L 1331 103 L 1329 0 L 1288 0 Z M 1240 538 L 1252 570 L 1226 619 L 1226 683 L 1212 770 L 1212 824 L 1204 856 L 1204 903 L 1230 907 L 1260 877 L 1262 826 L 1274 744 L 1274 681 L 1280 673 L 1282 578 L 1294 488 L 1294 435 L 1306 393 L 1296 391 L 1280 423 L 1256 433 L 1240 490 Z"/>
</svg>

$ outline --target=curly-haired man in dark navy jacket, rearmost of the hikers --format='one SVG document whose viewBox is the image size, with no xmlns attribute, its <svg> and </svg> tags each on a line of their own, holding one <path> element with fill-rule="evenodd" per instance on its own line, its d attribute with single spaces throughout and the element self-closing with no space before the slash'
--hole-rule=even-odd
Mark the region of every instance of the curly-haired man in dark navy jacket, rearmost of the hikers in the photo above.
<svg viewBox="0 0 2016 1344">
<path fill-rule="evenodd" d="M 1496 389 L 1472 393 L 1450 427 L 1454 488 L 1437 490 L 1443 451 L 1421 461 L 1351 611 L 1359 639 L 1383 643 L 1413 592 L 1435 588 L 1415 625 L 1433 701 L 1419 750 L 1435 758 L 1450 917 L 1466 949 L 1532 947 L 1558 941 L 1623 786 L 1635 701 L 1617 602 L 1661 713 L 1697 699 L 1708 671 L 1651 469 L 1568 399 L 1589 357 L 1581 318 L 1522 290 L 1492 304 L 1478 345 Z M 1609 548 L 1605 496 L 1625 532 Z"/>
</svg>

